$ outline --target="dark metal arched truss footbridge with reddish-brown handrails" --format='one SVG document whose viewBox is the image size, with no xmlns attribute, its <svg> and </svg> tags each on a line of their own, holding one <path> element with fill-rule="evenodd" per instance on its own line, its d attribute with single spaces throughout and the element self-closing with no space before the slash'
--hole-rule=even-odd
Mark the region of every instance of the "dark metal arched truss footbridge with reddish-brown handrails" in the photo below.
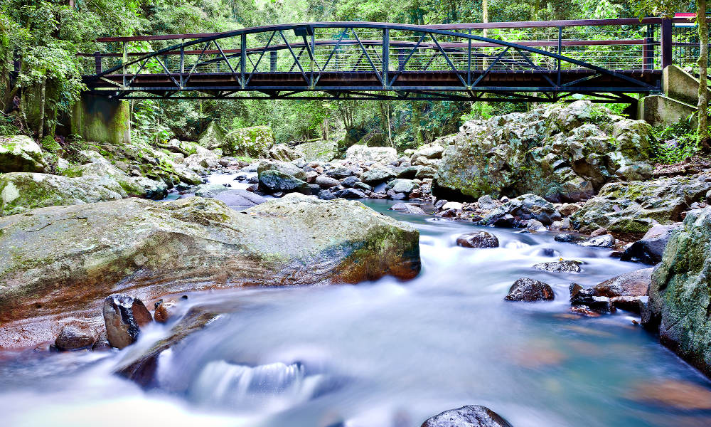
<svg viewBox="0 0 711 427">
<path fill-rule="evenodd" d="M 119 99 L 631 102 L 661 90 L 673 48 L 698 46 L 672 37 L 673 20 L 656 18 L 316 22 L 100 38 L 104 52 L 80 56 L 90 92 Z"/>
</svg>

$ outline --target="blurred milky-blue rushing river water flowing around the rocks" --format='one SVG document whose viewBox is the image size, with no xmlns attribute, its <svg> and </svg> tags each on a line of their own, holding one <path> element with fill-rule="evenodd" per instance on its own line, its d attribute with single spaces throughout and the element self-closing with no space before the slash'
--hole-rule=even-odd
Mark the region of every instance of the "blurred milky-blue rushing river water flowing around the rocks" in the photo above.
<svg viewBox="0 0 711 427">
<path fill-rule="evenodd" d="M 642 265 L 549 233 L 491 229 L 501 248 L 459 248 L 456 236 L 476 227 L 368 204 L 419 229 L 415 280 L 190 295 L 191 305 L 233 308 L 164 352 L 150 391 L 110 372 L 169 326 L 123 352 L 0 353 L 0 425 L 418 427 L 464 404 L 515 427 L 711 425 L 708 412 L 639 401 L 654 381 L 710 384 L 635 316 L 570 314 L 571 281 L 594 285 Z M 550 255 L 584 270 L 531 268 Z M 504 301 L 523 276 L 552 285 L 555 301 Z"/>
</svg>

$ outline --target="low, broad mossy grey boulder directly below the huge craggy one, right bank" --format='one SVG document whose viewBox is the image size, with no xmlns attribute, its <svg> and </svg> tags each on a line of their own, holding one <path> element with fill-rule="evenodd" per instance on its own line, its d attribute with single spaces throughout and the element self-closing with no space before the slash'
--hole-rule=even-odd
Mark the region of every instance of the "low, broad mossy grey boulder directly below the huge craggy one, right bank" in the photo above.
<svg viewBox="0 0 711 427">
<path fill-rule="evenodd" d="M 641 237 L 656 223 L 680 221 L 681 213 L 704 198 L 709 190 L 709 174 L 610 183 L 570 220 L 584 233 L 607 228 L 612 233 Z"/>
</svg>

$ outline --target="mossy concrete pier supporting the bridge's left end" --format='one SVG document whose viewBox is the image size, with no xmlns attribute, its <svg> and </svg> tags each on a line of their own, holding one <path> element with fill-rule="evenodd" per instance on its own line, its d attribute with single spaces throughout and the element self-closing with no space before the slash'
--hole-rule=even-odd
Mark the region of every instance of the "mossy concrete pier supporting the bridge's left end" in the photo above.
<svg viewBox="0 0 711 427">
<path fill-rule="evenodd" d="M 130 122 L 129 101 L 82 93 L 73 108 L 71 132 L 86 141 L 127 144 Z"/>
</svg>

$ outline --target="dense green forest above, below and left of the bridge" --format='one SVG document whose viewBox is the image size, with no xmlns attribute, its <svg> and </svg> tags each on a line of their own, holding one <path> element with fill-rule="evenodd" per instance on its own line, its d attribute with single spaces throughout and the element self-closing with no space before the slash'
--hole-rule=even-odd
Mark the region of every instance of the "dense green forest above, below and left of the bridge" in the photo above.
<svg viewBox="0 0 711 427">
<path fill-rule="evenodd" d="M 6 0 L 0 6 L 0 134 L 69 137 L 67 116 L 82 91 L 76 53 L 100 50 L 95 39 L 101 36 L 206 33 L 303 21 L 618 18 L 693 6 L 610 0 Z M 147 51 L 151 46 L 137 42 L 130 48 Z M 18 58 L 21 73 L 11 82 L 9 72 Z M 218 120 L 227 129 L 269 125 L 277 142 L 328 137 L 345 145 L 361 141 L 402 150 L 456 132 L 466 118 L 528 109 L 484 102 L 145 100 L 132 102 L 132 120 L 135 136 L 150 139 L 196 139 Z"/>
</svg>

